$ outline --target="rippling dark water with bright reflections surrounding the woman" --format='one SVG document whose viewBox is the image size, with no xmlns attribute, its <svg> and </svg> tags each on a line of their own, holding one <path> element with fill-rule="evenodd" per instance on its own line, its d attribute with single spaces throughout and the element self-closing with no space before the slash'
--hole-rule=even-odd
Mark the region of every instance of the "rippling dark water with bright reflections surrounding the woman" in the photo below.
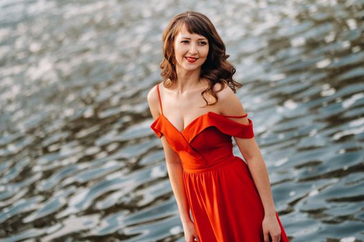
<svg viewBox="0 0 364 242">
<path fill-rule="evenodd" d="M 146 102 L 184 10 L 225 41 L 291 241 L 364 241 L 363 0 L 0 1 L 0 241 L 184 241 Z"/>
</svg>

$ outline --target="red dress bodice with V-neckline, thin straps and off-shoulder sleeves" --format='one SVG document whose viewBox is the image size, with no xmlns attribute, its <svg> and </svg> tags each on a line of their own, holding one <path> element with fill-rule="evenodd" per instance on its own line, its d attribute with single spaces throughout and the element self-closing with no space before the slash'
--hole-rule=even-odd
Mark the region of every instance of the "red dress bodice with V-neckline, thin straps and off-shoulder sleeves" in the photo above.
<svg viewBox="0 0 364 242">
<path fill-rule="evenodd" d="M 161 115 L 150 125 L 156 135 L 166 137 L 186 168 L 206 167 L 219 161 L 234 158 L 232 136 L 238 138 L 254 137 L 252 120 L 241 124 L 230 118 L 245 118 L 245 115 L 223 115 L 214 112 L 204 113 L 182 131 L 179 131 L 163 114 L 162 101 L 157 85 Z"/>
</svg>

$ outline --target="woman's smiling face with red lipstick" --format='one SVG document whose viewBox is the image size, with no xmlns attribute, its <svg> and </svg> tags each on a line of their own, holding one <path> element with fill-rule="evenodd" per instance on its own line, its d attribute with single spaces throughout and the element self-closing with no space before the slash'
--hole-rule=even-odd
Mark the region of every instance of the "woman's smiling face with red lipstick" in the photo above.
<svg viewBox="0 0 364 242">
<path fill-rule="evenodd" d="M 175 37 L 174 49 L 177 69 L 200 71 L 209 53 L 209 42 L 202 35 L 191 34 L 186 28 L 182 28 Z"/>
</svg>

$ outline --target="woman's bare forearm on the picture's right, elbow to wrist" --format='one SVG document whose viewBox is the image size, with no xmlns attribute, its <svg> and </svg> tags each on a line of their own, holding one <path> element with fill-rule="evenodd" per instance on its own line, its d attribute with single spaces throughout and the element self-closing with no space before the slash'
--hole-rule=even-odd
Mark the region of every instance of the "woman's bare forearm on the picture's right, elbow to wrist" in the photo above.
<svg viewBox="0 0 364 242">
<path fill-rule="evenodd" d="M 264 214 L 267 216 L 275 215 L 275 203 L 272 197 L 272 189 L 266 164 L 261 156 L 251 158 L 247 161 L 250 174 L 259 192 L 264 207 Z"/>
</svg>

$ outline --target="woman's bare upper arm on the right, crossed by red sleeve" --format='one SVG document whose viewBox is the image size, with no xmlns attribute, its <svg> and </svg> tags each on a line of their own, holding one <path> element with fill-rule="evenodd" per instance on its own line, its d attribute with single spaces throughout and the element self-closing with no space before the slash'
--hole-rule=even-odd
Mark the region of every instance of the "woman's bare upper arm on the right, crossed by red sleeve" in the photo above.
<svg viewBox="0 0 364 242">
<path fill-rule="evenodd" d="M 225 88 L 218 93 L 218 102 L 220 113 L 223 115 L 245 115 L 245 109 L 239 100 L 239 97 L 229 88 L 229 86 L 225 86 Z M 241 124 L 249 124 L 248 116 L 244 118 L 229 118 L 234 120 L 235 122 L 239 122 Z M 245 161 L 248 162 L 251 158 L 255 156 L 261 156 L 259 151 L 259 147 L 257 141 L 254 137 L 252 138 L 239 138 L 234 136 L 234 140 L 236 145 L 238 145 L 241 154 L 243 155 Z"/>
</svg>

